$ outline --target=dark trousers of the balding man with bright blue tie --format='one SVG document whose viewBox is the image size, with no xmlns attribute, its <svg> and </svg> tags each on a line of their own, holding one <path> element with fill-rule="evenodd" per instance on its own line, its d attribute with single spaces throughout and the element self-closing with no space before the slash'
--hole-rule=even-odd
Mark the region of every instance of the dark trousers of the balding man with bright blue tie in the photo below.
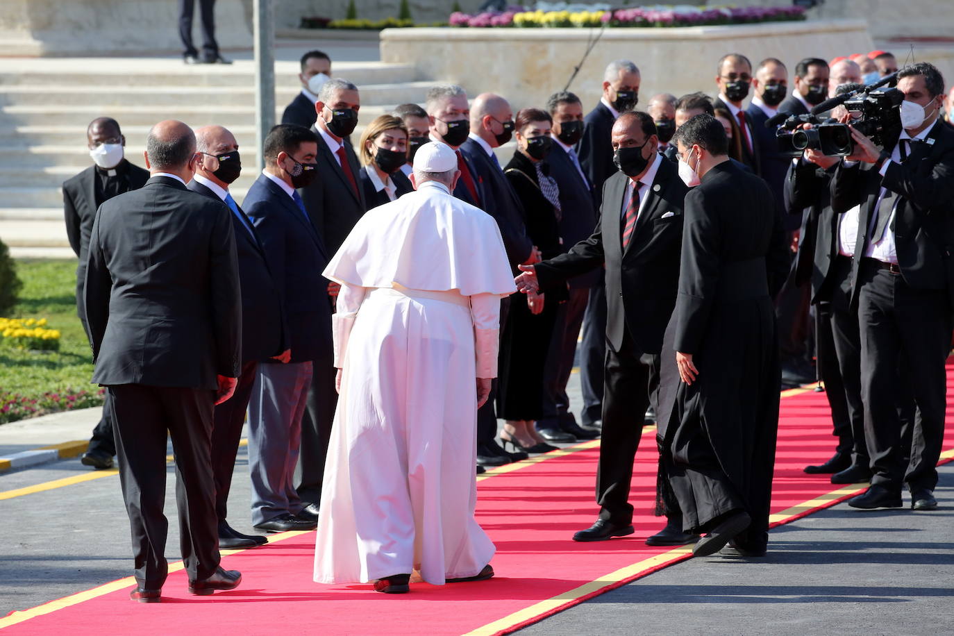
<svg viewBox="0 0 954 636">
<path fill-rule="evenodd" d="M 241 429 L 245 424 L 245 411 L 252 398 L 256 371 L 259 362 L 245 362 L 241 367 L 239 384 L 229 400 L 218 404 L 213 414 L 212 427 L 212 475 L 216 481 L 216 516 L 224 522 L 228 516 L 229 490 L 235 472 L 236 456 L 239 454 Z"/>
</svg>

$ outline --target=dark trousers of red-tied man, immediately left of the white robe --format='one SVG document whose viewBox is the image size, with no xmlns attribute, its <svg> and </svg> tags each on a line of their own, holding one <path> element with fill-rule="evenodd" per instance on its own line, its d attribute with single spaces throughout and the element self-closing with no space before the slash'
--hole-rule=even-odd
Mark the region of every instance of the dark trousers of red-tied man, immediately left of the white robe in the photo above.
<svg viewBox="0 0 954 636">
<path fill-rule="evenodd" d="M 337 369 L 330 358 L 312 363 L 311 386 L 301 416 L 301 451 L 297 471 L 299 485 L 295 488 L 304 505 L 321 503 L 324 462 L 328 457 L 331 424 L 338 406 L 336 373 Z"/>
</svg>

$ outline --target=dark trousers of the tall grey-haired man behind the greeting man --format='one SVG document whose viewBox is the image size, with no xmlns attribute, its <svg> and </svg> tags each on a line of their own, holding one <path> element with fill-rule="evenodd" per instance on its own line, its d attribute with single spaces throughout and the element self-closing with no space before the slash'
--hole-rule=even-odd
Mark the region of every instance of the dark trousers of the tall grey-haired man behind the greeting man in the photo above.
<svg viewBox="0 0 954 636">
<path fill-rule="evenodd" d="M 580 342 L 580 389 L 583 412 L 580 421 L 592 424 L 603 417 L 603 371 L 606 363 L 606 283 L 603 276 L 591 288 L 583 316 Z"/>
</svg>

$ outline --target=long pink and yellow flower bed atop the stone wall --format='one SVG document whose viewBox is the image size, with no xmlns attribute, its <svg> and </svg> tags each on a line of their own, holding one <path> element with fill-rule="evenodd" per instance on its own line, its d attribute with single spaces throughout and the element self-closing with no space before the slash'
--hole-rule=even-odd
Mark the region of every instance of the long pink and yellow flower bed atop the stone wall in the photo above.
<svg viewBox="0 0 954 636">
<path fill-rule="evenodd" d="M 801 7 L 747 7 L 742 9 L 617 9 L 582 11 L 527 11 L 450 14 L 451 27 L 486 28 L 580 28 L 580 27 L 705 27 L 759 22 L 804 20 Z"/>
</svg>

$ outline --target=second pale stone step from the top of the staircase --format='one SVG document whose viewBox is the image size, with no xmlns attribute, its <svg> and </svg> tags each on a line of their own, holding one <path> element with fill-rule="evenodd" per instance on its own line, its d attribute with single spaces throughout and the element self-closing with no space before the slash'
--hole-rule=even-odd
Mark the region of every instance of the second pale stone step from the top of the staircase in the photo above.
<svg viewBox="0 0 954 636">
<path fill-rule="evenodd" d="M 0 105 L 50 106 L 56 103 L 74 106 L 112 107 L 148 103 L 156 108 L 179 104 L 221 104 L 223 106 L 253 106 L 255 82 L 244 86 L 57 86 L 49 83 L 0 85 Z M 403 104 L 423 102 L 432 82 L 403 82 L 359 85 L 363 104 Z M 283 83 L 276 90 L 275 100 L 283 109 L 301 92 L 297 79 Z M 121 122 L 120 122 L 121 123 Z"/>
</svg>

